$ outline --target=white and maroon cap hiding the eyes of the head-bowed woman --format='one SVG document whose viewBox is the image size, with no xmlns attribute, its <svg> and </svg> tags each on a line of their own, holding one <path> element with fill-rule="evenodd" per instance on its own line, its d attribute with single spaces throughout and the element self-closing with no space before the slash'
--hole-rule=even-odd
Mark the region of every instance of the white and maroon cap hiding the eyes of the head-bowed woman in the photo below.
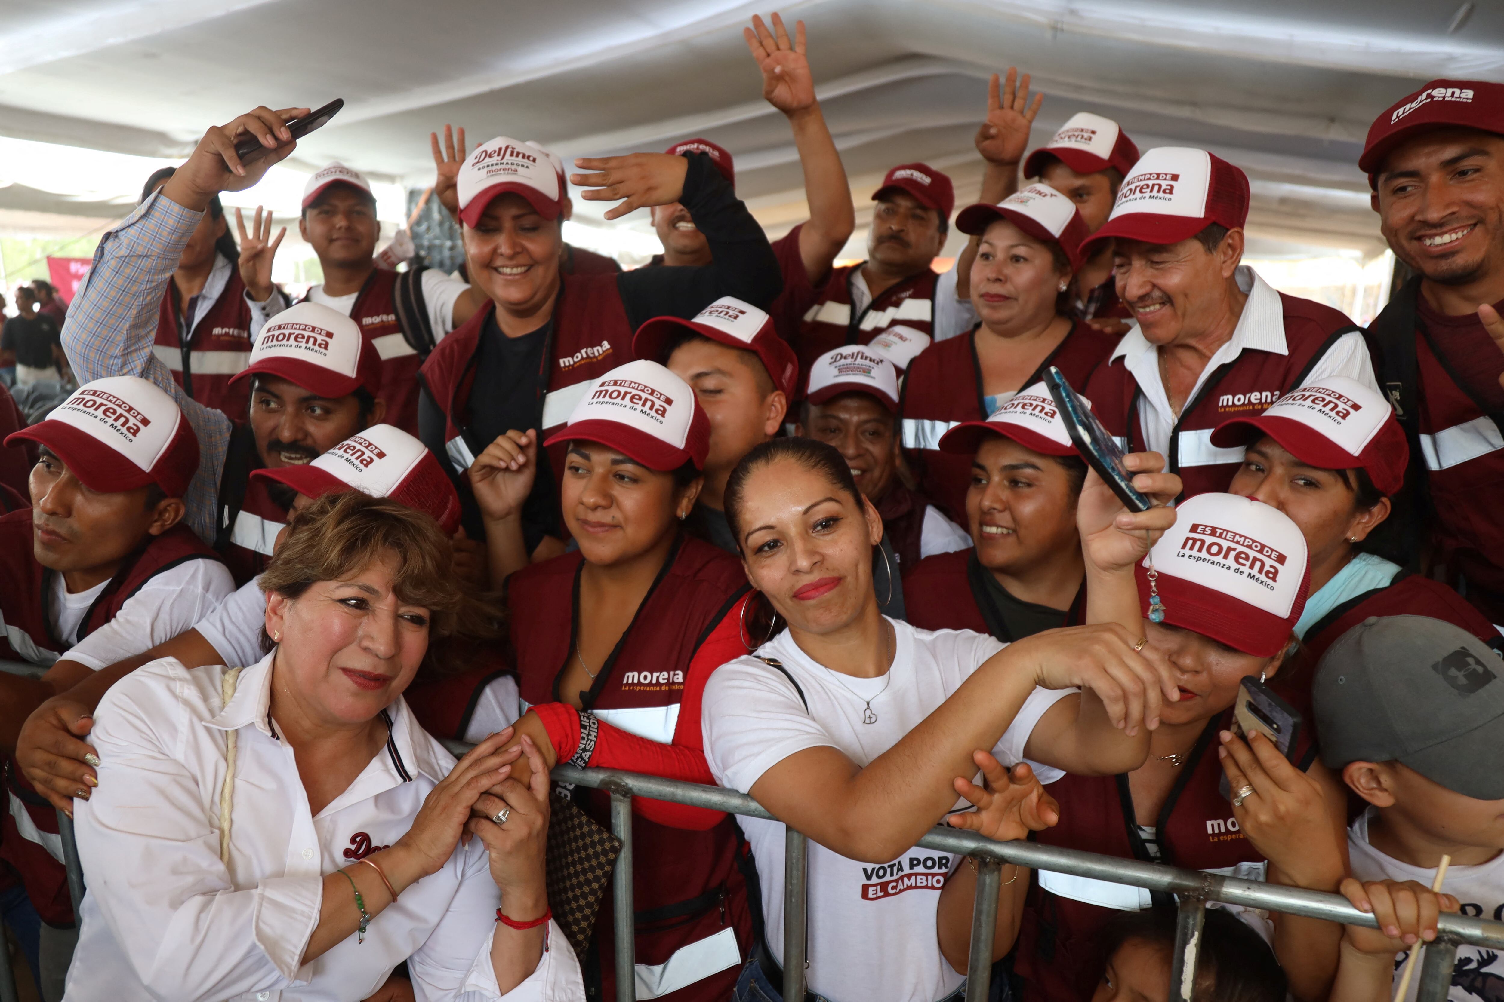
<svg viewBox="0 0 1504 1002">
<path fill-rule="evenodd" d="M 1251 497 L 1197 494 L 1175 509 L 1175 526 L 1136 569 L 1145 616 L 1151 559 L 1164 622 L 1256 658 L 1278 653 L 1305 608 L 1305 536 Z"/>
</svg>

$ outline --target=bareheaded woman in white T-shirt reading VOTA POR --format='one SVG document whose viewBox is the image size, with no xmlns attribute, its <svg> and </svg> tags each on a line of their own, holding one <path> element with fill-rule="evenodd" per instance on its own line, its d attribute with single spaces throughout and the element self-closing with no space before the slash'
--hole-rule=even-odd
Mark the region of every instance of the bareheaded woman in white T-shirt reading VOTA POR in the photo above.
<svg viewBox="0 0 1504 1002">
<path fill-rule="evenodd" d="M 1155 457 L 1137 461 L 1158 470 Z M 1136 482 L 1155 494 L 1179 490 L 1158 472 Z M 1163 659 L 1134 649 L 1142 626 L 1133 562 L 1148 548 L 1145 530 L 1169 526 L 1175 512 L 1123 512 L 1099 481 L 1086 491 L 1078 511 L 1093 575 L 1089 611 L 1101 625 L 1005 646 L 878 611 L 871 566 L 881 520 L 832 446 L 775 439 L 732 475 L 726 514 L 760 590 L 761 613 L 749 616 L 747 629 L 752 643 L 764 643 L 710 678 L 705 756 L 722 786 L 750 792 L 779 819 L 741 820 L 763 874 L 784 870 L 785 823 L 811 838 L 812 991 L 908 1000 L 958 993 L 975 874 L 913 846 L 966 808 L 957 793 L 972 789 L 954 783 L 958 772 L 984 762 L 993 769 L 976 750 L 996 748 L 1002 762 L 1039 760 L 1036 771 L 1048 774 L 1143 762 L 1145 724 L 1169 709 L 1160 696 L 1173 699 L 1175 685 Z M 1099 574 L 1102 565 L 1116 569 Z M 776 628 L 784 623 L 787 631 Z M 1084 691 L 1060 691 L 1077 685 Z M 981 825 L 975 814 L 954 822 Z M 1027 886 L 1027 876 L 1017 876 L 1003 874 L 1006 915 Z M 743 970 L 738 1000 L 776 999 L 782 981 L 781 894 L 773 879 L 763 889 L 767 943 Z M 982 948 L 1006 952 L 1014 930 L 1000 922 Z"/>
</svg>

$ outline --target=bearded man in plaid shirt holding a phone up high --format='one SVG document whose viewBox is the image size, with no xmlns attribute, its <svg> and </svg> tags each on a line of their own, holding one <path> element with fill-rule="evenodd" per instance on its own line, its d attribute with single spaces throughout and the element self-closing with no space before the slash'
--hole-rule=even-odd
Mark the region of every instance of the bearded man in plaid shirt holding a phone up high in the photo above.
<svg viewBox="0 0 1504 1002">
<path fill-rule="evenodd" d="M 253 380 L 244 424 L 188 398 L 152 352 L 164 282 L 205 210 L 293 150 L 284 123 L 299 113 L 257 108 L 205 132 L 167 183 L 99 242 L 63 330 L 81 380 L 140 376 L 177 401 L 202 449 L 182 494 L 183 520 L 214 542 L 238 583 L 260 572 L 292 502 L 251 484 L 251 470 L 305 464 L 387 412 L 376 349 L 353 320 L 317 303 L 290 306 L 262 329 L 250 365 L 235 377 Z M 235 144 L 248 137 L 265 152 L 242 162 Z"/>
</svg>

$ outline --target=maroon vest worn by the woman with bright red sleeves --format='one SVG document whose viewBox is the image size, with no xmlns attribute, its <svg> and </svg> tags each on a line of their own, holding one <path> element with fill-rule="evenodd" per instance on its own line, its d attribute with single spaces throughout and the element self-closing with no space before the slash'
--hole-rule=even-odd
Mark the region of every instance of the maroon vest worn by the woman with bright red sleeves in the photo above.
<svg viewBox="0 0 1504 1002">
<path fill-rule="evenodd" d="M 575 656 L 575 622 L 584 559 L 567 553 L 532 563 L 507 578 L 511 643 L 526 705 L 561 702 L 558 681 Z M 695 650 L 747 590 L 741 562 L 680 535 L 669 559 L 584 705 L 600 720 L 672 742 L 684 673 Z M 698 712 L 698 708 L 693 708 Z M 657 732 L 657 733 L 651 733 Z M 609 796 L 576 790 L 576 802 L 600 825 L 611 823 Z M 710 831 L 684 831 L 632 816 L 636 960 L 665 963 L 675 949 L 731 924 L 747 955 L 752 918 L 746 882 L 737 868 L 737 832 L 729 817 Z M 603 996 L 614 997 L 611 891 L 596 922 Z M 735 967 L 674 993 L 674 999 L 725 999 Z"/>
</svg>

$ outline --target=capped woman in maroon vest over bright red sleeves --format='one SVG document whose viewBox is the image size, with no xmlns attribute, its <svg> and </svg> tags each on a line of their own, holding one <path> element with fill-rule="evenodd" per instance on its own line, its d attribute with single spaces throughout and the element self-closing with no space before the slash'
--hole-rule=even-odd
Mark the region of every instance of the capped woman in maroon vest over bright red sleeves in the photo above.
<svg viewBox="0 0 1504 1002">
<path fill-rule="evenodd" d="M 741 562 L 683 529 L 710 422 L 657 362 L 600 379 L 544 445 L 567 443 L 559 490 L 575 553 L 507 578 L 528 735 L 558 762 L 714 783 L 699 738 L 705 679 L 747 652 Z M 538 452 L 540 458 L 543 452 Z M 520 476 L 523 470 L 502 470 Z M 543 475 L 540 472 L 540 475 Z M 747 616 L 747 619 L 752 619 Z M 575 802 L 609 826 L 605 792 Z M 725 999 L 752 945 L 740 834 L 726 814 L 633 798 L 636 970 L 651 997 Z M 611 892 L 587 981 L 615 997 Z M 677 957 L 675 957 L 677 955 Z M 672 963 L 671 963 L 672 961 Z"/>
</svg>

